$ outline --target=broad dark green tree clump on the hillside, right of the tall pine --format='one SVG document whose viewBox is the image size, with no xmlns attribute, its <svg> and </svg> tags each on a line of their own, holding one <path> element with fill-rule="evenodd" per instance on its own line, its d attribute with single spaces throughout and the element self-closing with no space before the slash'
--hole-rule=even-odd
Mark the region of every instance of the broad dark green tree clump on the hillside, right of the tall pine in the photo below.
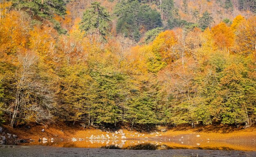
<svg viewBox="0 0 256 157">
<path fill-rule="evenodd" d="M 117 15 L 117 33 L 124 34 L 135 41 L 140 39 L 140 30 L 148 31 L 161 27 L 161 15 L 146 4 L 137 0 L 123 0 L 115 7 Z"/>
</svg>

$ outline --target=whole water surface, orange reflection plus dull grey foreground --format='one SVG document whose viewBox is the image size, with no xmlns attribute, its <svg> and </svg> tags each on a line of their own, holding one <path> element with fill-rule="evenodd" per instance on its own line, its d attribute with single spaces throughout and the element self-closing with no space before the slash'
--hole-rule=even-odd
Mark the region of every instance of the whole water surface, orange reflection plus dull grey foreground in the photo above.
<svg viewBox="0 0 256 157">
<path fill-rule="evenodd" d="M 31 142 L 0 146 L 0 157 L 256 157 L 254 139 L 214 140 L 89 140 Z"/>
</svg>

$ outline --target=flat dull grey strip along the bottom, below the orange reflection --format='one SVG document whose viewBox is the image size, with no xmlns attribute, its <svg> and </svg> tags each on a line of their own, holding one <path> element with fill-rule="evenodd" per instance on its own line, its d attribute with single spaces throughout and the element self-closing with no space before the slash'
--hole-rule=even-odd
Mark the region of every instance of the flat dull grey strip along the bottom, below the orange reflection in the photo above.
<svg viewBox="0 0 256 157">
<path fill-rule="evenodd" d="M 60 148 L 49 146 L 0 147 L 1 157 L 255 157 L 256 151 L 238 150 L 119 150 L 99 148 Z"/>
</svg>

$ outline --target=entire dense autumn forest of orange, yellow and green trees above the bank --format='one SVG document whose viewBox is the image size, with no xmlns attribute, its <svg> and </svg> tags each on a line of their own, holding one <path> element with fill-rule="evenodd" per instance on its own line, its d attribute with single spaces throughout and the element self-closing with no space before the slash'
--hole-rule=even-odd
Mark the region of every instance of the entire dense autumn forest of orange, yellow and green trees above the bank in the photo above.
<svg viewBox="0 0 256 157">
<path fill-rule="evenodd" d="M 0 122 L 256 122 L 255 0 L 0 0 Z"/>
</svg>

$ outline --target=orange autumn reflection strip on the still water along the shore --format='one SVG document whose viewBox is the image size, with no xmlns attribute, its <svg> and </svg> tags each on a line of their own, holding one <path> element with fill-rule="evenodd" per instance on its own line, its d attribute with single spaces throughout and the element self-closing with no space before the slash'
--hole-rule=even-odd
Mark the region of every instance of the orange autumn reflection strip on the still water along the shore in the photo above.
<svg viewBox="0 0 256 157">
<path fill-rule="evenodd" d="M 130 150 L 168 150 L 168 149 L 208 149 L 208 150 L 254 150 L 252 144 L 229 144 L 220 141 L 154 141 L 154 140 L 77 140 L 70 142 L 32 142 L 20 145 L 43 145 L 56 147 L 77 147 L 77 148 L 106 148 L 106 149 L 130 149 Z"/>
</svg>

